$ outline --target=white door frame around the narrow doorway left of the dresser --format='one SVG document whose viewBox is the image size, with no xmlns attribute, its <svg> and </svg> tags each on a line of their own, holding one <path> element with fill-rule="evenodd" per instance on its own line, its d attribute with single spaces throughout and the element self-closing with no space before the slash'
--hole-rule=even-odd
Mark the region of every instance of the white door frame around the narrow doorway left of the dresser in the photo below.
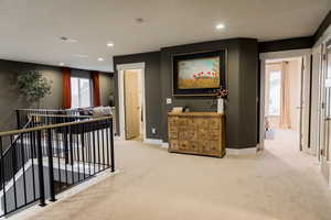
<svg viewBox="0 0 331 220">
<path fill-rule="evenodd" d="M 125 117 L 125 70 L 141 69 L 141 108 L 142 108 L 142 141 L 146 141 L 146 88 L 145 88 L 145 63 L 131 63 L 116 65 L 118 73 L 118 98 L 119 98 L 119 139 L 126 140 L 126 117 Z"/>
</svg>

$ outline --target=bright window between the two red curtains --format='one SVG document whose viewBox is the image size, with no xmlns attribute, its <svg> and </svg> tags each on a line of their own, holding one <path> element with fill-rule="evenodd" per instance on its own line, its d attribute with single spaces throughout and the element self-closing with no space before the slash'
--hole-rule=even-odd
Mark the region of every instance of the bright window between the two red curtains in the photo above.
<svg viewBox="0 0 331 220">
<path fill-rule="evenodd" d="M 72 77 L 72 108 L 90 107 L 90 79 Z"/>
</svg>

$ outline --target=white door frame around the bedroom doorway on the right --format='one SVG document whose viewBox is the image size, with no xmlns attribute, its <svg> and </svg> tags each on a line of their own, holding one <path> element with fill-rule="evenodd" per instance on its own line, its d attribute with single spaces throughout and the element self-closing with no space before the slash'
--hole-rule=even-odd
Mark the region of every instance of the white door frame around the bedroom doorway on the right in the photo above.
<svg viewBox="0 0 331 220">
<path fill-rule="evenodd" d="M 303 58 L 303 75 L 307 77 L 307 80 L 303 81 L 303 88 L 302 89 L 309 89 L 310 90 L 310 56 L 311 56 L 311 50 L 292 50 L 292 51 L 282 51 L 282 52 L 268 52 L 268 53 L 260 53 L 259 54 L 259 61 L 260 61 L 260 87 L 259 87 L 259 145 L 258 148 L 259 150 L 264 150 L 265 148 L 265 88 L 266 88 L 266 61 L 267 59 L 279 59 L 279 58 L 291 58 L 291 57 L 302 57 Z M 307 108 L 303 109 L 303 111 L 306 111 L 306 113 L 303 116 L 309 116 L 309 94 L 305 94 L 305 98 L 303 100 L 306 100 L 307 105 L 305 105 Z M 306 124 L 303 124 L 305 127 L 305 132 L 303 135 L 306 135 L 306 138 L 303 136 L 303 151 L 309 151 L 308 147 L 308 127 L 309 124 L 307 123 L 308 121 L 306 121 Z M 308 152 L 310 153 L 310 152 Z"/>
</svg>

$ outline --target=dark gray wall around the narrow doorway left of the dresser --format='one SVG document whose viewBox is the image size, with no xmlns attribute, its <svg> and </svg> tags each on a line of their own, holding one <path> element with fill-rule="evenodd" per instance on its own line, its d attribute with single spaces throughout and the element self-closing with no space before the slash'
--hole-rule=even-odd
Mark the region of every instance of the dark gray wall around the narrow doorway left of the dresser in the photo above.
<svg viewBox="0 0 331 220">
<path fill-rule="evenodd" d="M 161 139 L 163 132 L 162 124 L 162 97 L 160 79 L 160 52 L 143 54 L 115 56 L 114 57 L 114 80 L 115 80 L 115 103 L 117 117 L 117 133 L 119 134 L 119 109 L 118 109 L 118 73 L 116 66 L 119 64 L 145 63 L 145 92 L 146 92 L 146 129 L 148 139 Z M 151 129 L 156 128 L 153 134 Z"/>
</svg>

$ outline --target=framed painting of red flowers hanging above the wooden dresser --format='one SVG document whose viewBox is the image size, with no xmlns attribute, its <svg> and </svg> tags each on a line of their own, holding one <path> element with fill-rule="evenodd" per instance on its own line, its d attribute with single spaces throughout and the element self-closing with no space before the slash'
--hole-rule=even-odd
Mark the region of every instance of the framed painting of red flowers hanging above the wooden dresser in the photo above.
<svg viewBox="0 0 331 220">
<path fill-rule="evenodd" d="M 225 88 L 225 51 L 173 56 L 174 96 L 213 96 Z"/>
</svg>

